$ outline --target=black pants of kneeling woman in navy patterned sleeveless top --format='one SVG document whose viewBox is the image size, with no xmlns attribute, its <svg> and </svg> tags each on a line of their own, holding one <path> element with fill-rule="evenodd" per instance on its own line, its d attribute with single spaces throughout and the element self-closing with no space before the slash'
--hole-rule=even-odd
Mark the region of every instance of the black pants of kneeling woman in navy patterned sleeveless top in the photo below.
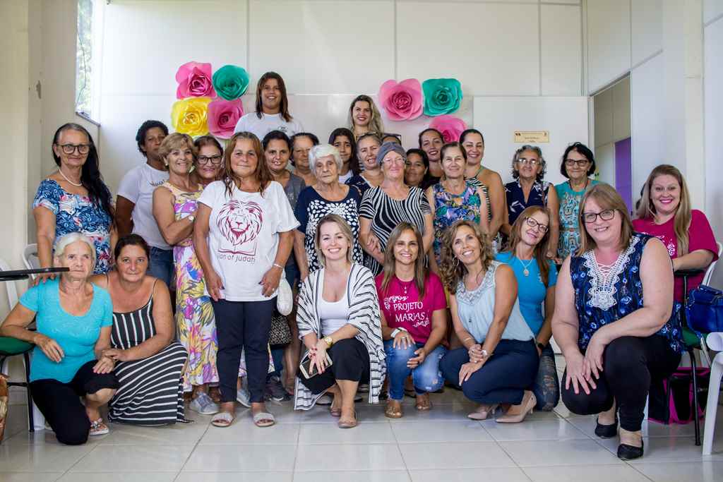
<svg viewBox="0 0 723 482">
<path fill-rule="evenodd" d="M 603 353 L 603 371 L 595 381 L 597 388 L 590 395 L 580 389 L 576 395 L 573 384 L 565 389 L 567 369 L 562 375 L 562 403 L 572 413 L 592 415 L 604 412 L 617 402 L 620 427 L 638 431 L 643 425 L 643 412 L 652 380 L 667 378 L 677 369 L 680 353 L 670 348 L 660 335 L 646 338 L 620 337 L 612 340 Z"/>
</svg>

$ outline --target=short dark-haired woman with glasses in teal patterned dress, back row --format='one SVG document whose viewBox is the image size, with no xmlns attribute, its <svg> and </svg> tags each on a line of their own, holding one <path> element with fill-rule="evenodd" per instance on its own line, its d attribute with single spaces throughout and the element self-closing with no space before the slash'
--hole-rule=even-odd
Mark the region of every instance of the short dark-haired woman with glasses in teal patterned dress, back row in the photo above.
<svg viewBox="0 0 723 482">
<path fill-rule="evenodd" d="M 557 259 L 562 261 L 580 246 L 580 199 L 590 186 L 598 183 L 590 178 L 595 173 L 595 157 L 589 147 L 581 142 L 570 144 L 562 155 L 560 173 L 568 178 L 555 186 L 557 199 L 560 199 L 560 242 L 557 244 Z"/>
</svg>

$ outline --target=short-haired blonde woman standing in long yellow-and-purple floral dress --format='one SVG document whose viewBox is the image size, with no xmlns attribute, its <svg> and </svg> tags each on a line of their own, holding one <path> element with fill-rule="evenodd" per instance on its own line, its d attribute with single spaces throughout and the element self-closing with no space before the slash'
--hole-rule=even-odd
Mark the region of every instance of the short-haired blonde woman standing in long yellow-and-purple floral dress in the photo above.
<svg viewBox="0 0 723 482">
<path fill-rule="evenodd" d="M 213 308 L 192 241 L 198 198 L 203 191 L 189 173 L 196 152 L 187 134 L 175 132 L 163 139 L 158 154 L 168 167 L 168 181 L 153 191 L 153 216 L 163 239 L 174 247 L 176 327 L 179 341 L 189 353 L 184 392 L 192 392 L 191 410 L 213 415 L 218 412 L 218 404 L 208 395 L 208 384 L 218 383 L 218 343 Z M 207 150 L 205 157 L 213 155 L 208 156 Z M 210 164 L 213 166 L 213 160 Z"/>
</svg>

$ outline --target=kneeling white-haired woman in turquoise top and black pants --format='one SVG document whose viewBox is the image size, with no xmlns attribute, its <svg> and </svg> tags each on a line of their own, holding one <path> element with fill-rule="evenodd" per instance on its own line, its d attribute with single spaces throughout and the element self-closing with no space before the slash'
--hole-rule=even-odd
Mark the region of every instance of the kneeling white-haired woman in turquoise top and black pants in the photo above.
<svg viewBox="0 0 723 482">
<path fill-rule="evenodd" d="M 67 267 L 55 280 L 33 286 L 20 298 L 0 335 L 35 344 L 30 393 L 58 442 L 80 445 L 88 435 L 108 433 L 100 407 L 118 388 L 111 345 L 113 304 L 103 288 L 87 279 L 95 267 L 95 246 L 82 233 L 56 241 L 54 266 Z M 36 318 L 38 331 L 27 330 Z M 79 397 L 85 397 L 85 406 Z"/>
</svg>

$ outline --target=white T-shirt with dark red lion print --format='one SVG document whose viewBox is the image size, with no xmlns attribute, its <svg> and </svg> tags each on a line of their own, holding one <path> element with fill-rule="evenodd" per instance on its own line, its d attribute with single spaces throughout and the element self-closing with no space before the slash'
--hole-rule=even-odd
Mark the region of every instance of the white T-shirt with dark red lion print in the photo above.
<svg viewBox="0 0 723 482">
<path fill-rule="evenodd" d="M 211 208 L 208 247 L 211 264 L 223 282 L 227 301 L 265 301 L 259 284 L 273 266 L 278 233 L 299 225 L 281 184 L 271 181 L 261 195 L 236 188 L 229 197 L 223 181 L 214 181 L 198 199 Z M 294 254 L 291 254 L 294 256 Z"/>
</svg>

